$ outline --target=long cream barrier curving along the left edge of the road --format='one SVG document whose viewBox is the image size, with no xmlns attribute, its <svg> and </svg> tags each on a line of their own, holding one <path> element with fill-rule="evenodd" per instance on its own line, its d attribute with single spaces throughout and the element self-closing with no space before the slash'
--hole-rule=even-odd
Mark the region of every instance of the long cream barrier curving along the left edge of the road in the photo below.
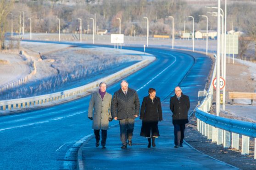
<svg viewBox="0 0 256 170">
<path fill-rule="evenodd" d="M 133 64 L 125 69 L 118 71 L 117 73 L 111 74 L 105 78 L 97 80 L 95 82 L 89 83 L 87 85 L 83 85 L 77 88 L 73 88 L 70 90 L 64 90 L 56 93 L 51 93 L 47 95 L 41 96 L 34 96 L 34 97 L 27 97 L 27 98 L 20 98 L 20 99 L 12 99 L 12 100 L 5 100 L 0 101 L 0 111 L 1 110 L 14 110 L 14 109 L 21 109 L 21 108 L 28 108 L 34 105 L 44 104 L 50 101 L 58 101 L 67 97 L 75 96 L 75 95 L 82 95 L 88 92 L 89 90 L 93 90 L 95 87 L 98 87 L 101 81 L 105 81 L 111 83 L 117 79 L 120 79 L 121 76 L 131 74 L 135 70 L 138 70 L 145 65 L 149 64 L 150 62 L 154 61 L 155 57 L 144 57 L 143 60 Z"/>
</svg>

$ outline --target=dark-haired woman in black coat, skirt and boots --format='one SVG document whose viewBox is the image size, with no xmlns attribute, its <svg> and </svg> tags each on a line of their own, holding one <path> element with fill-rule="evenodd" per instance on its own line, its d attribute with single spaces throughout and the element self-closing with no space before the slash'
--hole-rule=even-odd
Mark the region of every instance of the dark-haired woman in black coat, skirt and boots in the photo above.
<svg viewBox="0 0 256 170">
<path fill-rule="evenodd" d="M 158 121 L 161 122 L 163 117 L 160 98 L 156 96 L 156 90 L 153 88 L 149 89 L 149 96 L 143 98 L 139 119 L 142 119 L 140 136 L 148 138 L 148 148 L 151 147 L 152 138 L 152 146 L 155 147 L 155 139 L 160 136 Z"/>
</svg>

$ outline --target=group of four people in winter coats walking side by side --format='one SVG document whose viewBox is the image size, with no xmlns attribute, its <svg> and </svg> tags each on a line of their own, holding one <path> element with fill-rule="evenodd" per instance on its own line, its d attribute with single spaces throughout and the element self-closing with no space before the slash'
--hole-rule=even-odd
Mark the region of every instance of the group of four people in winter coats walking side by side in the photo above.
<svg viewBox="0 0 256 170">
<path fill-rule="evenodd" d="M 148 148 L 156 146 L 155 139 L 160 136 L 158 122 L 163 120 L 161 100 L 156 96 L 156 90 L 150 88 L 148 96 L 143 98 L 141 107 L 136 90 L 128 87 L 128 82 L 122 80 L 121 88 L 113 96 L 106 92 L 106 82 L 100 83 L 99 91 L 91 95 L 88 118 L 93 121 L 96 143 L 106 148 L 107 129 L 113 119 L 119 121 L 121 149 L 132 146 L 134 121 L 136 117 L 142 120 L 140 136 L 148 139 Z M 171 97 L 170 109 L 173 112 L 174 147 L 183 147 L 185 124 L 188 123 L 189 97 L 182 93 L 180 87 L 175 88 Z"/>
</svg>

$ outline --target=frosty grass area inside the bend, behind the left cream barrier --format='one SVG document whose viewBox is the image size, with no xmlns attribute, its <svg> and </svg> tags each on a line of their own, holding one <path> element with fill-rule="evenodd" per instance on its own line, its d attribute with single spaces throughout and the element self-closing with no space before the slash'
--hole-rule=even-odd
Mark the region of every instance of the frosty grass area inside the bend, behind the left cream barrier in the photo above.
<svg viewBox="0 0 256 170">
<path fill-rule="evenodd" d="M 69 48 L 42 55 L 41 58 L 42 64 L 37 62 L 41 69 L 38 70 L 35 78 L 25 85 L 2 92 L 0 100 L 71 89 L 113 74 L 142 60 L 138 53 L 109 48 Z M 44 61 L 48 63 L 50 61 L 50 64 L 47 66 L 43 64 Z M 40 75 L 49 69 L 52 74 Z"/>
</svg>

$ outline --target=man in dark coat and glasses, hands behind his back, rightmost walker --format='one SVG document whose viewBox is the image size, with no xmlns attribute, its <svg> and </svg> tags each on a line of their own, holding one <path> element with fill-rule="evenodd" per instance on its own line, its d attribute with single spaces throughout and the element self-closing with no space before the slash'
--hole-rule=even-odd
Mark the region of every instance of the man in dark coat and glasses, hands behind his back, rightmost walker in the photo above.
<svg viewBox="0 0 256 170">
<path fill-rule="evenodd" d="M 184 95 L 181 88 L 177 86 L 175 88 L 175 95 L 170 100 L 170 109 L 173 112 L 175 148 L 183 147 L 185 125 L 189 122 L 189 107 L 189 96 Z"/>
</svg>

